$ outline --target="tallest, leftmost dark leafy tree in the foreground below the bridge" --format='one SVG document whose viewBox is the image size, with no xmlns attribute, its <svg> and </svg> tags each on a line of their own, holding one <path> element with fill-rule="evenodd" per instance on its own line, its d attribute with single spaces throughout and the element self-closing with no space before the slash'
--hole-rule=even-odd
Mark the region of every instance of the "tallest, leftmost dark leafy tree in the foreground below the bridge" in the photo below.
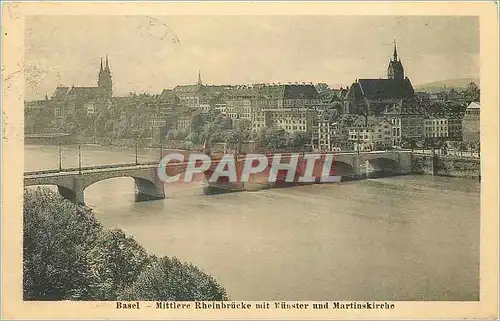
<svg viewBox="0 0 500 321">
<path fill-rule="evenodd" d="M 93 212 L 48 189 L 25 189 L 23 219 L 24 299 L 92 298 L 85 253 L 102 230 Z"/>
</svg>

